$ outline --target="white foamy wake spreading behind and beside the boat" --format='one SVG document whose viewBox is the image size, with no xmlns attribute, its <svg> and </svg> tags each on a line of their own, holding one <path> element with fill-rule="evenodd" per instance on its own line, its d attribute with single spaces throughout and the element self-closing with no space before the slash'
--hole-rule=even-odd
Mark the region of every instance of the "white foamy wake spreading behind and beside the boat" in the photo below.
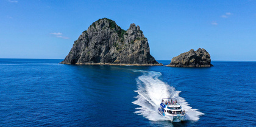
<svg viewBox="0 0 256 127">
<path fill-rule="evenodd" d="M 162 101 L 162 98 L 177 98 L 183 109 L 186 111 L 185 120 L 199 120 L 200 115 L 204 115 L 202 112 L 197 111 L 197 109 L 192 109 L 184 98 L 179 97 L 180 91 L 176 91 L 175 88 L 169 86 L 169 84 L 164 83 L 158 77 L 162 74 L 160 72 L 147 72 L 143 70 L 133 70 L 134 72 L 142 72 L 143 75 L 137 78 L 138 93 L 137 100 L 132 103 L 140 106 L 136 108 L 138 111 L 135 113 L 143 115 L 143 117 L 148 118 L 152 121 L 163 121 L 166 120 L 165 117 L 158 114 L 158 107 Z"/>
</svg>

